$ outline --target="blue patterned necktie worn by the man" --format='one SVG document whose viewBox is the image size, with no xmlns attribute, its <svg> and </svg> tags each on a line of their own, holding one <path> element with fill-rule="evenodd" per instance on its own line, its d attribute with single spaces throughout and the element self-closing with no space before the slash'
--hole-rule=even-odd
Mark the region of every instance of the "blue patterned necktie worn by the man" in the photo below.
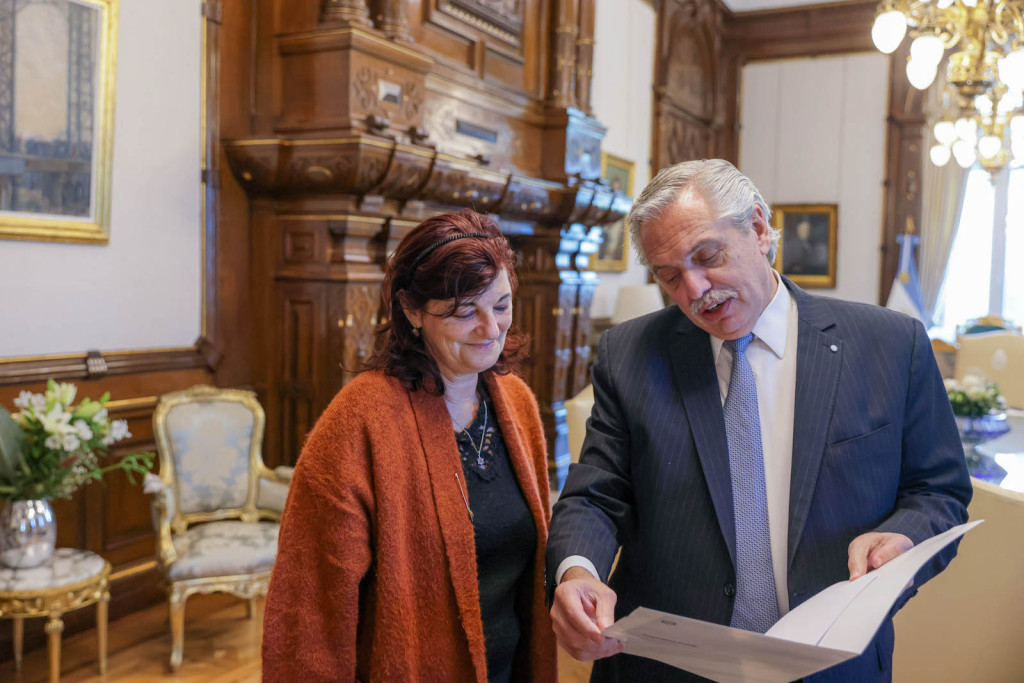
<svg viewBox="0 0 1024 683">
<path fill-rule="evenodd" d="M 753 334 L 730 339 L 732 376 L 725 397 L 732 510 L 736 523 L 736 599 L 729 626 L 764 633 L 778 621 L 768 528 L 765 461 L 761 449 L 758 388 L 746 359 Z"/>
</svg>

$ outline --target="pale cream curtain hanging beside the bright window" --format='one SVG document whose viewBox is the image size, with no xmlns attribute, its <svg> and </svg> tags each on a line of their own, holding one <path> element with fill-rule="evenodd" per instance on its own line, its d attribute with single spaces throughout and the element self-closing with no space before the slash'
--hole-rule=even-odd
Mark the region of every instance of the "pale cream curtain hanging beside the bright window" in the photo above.
<svg viewBox="0 0 1024 683">
<path fill-rule="evenodd" d="M 918 276 L 921 284 L 921 298 L 926 321 L 935 319 L 935 309 L 939 303 L 939 293 L 946 279 L 949 253 L 953 248 L 961 210 L 964 207 L 964 193 L 967 188 L 968 171 L 962 169 L 955 159 L 943 167 L 936 166 L 928 159 L 928 151 L 935 144 L 932 125 L 941 117 L 942 95 L 946 87 L 945 68 L 940 67 L 935 83 L 928 91 L 925 104 L 925 164 L 922 173 L 921 190 L 921 244 L 918 247 Z"/>
</svg>

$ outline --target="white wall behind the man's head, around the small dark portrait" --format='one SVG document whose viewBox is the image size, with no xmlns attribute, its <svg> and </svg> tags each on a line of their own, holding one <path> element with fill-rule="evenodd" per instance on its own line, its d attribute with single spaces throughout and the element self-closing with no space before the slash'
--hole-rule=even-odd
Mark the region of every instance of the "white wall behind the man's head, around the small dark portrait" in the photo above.
<svg viewBox="0 0 1024 683">
<path fill-rule="evenodd" d="M 879 302 L 889 57 L 877 52 L 748 65 L 739 170 L 774 204 L 838 204 L 836 288 Z"/>
</svg>

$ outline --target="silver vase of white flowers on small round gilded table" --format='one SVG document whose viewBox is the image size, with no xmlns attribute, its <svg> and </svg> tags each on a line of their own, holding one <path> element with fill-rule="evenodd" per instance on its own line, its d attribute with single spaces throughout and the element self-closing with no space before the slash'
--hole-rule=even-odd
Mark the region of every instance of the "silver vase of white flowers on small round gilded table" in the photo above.
<svg viewBox="0 0 1024 683">
<path fill-rule="evenodd" d="M 71 498 L 114 470 L 134 480 L 153 467 L 152 453 L 106 464 L 110 446 L 131 436 L 128 424 L 109 419 L 109 393 L 73 405 L 76 392 L 74 384 L 50 380 L 45 393 L 23 391 L 14 399 L 18 413 L 0 407 L 0 501 L 7 501 L 0 512 L 0 564 L 36 566 L 50 556 L 56 540 L 52 499 Z"/>
</svg>

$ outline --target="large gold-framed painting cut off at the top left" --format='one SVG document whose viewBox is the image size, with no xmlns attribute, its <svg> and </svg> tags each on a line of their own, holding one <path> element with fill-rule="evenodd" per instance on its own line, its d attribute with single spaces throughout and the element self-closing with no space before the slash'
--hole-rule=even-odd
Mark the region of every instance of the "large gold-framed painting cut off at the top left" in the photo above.
<svg viewBox="0 0 1024 683">
<path fill-rule="evenodd" d="M 0 238 L 106 243 L 118 0 L 0 0 Z"/>
</svg>

